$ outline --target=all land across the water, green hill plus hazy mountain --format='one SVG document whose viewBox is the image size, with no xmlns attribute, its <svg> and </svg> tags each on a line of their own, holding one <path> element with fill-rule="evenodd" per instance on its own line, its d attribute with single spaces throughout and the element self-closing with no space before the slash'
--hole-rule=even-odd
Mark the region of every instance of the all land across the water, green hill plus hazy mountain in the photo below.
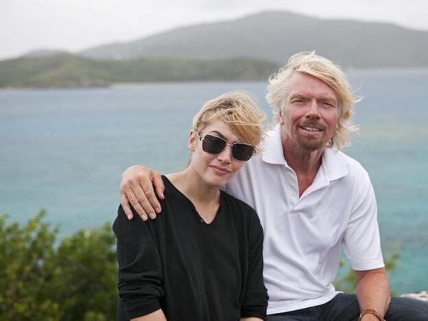
<svg viewBox="0 0 428 321">
<path fill-rule="evenodd" d="M 428 67 L 428 32 L 262 12 L 73 54 L 33 51 L 0 61 L 0 87 L 266 80 L 293 53 L 311 50 L 344 68 Z"/>
</svg>

